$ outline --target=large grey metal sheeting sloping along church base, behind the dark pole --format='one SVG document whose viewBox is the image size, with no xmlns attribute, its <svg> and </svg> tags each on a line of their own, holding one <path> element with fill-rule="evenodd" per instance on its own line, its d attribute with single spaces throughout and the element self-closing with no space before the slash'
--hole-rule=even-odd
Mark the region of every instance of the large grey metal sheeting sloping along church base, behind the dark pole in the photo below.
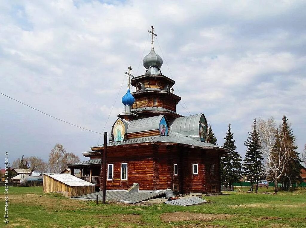
<svg viewBox="0 0 306 228">
<path fill-rule="evenodd" d="M 141 201 L 157 198 L 166 193 L 169 195 L 174 195 L 172 190 L 157 190 L 157 191 L 140 190 L 134 193 L 129 193 L 125 190 L 106 190 L 106 201 L 120 201 L 124 203 L 135 204 Z M 96 200 L 97 195 L 98 195 L 98 200 L 102 200 L 102 191 L 74 197 L 72 199 Z"/>
</svg>

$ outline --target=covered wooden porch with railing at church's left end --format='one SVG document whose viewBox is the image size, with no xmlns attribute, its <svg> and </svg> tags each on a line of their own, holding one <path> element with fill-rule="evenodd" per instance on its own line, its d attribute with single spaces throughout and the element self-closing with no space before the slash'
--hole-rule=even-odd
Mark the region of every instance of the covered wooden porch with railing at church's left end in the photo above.
<svg viewBox="0 0 306 228">
<path fill-rule="evenodd" d="M 67 165 L 74 175 L 74 169 L 80 169 L 80 177 L 90 183 L 100 186 L 101 181 L 101 159 L 90 159 L 88 161 L 77 162 Z"/>
</svg>

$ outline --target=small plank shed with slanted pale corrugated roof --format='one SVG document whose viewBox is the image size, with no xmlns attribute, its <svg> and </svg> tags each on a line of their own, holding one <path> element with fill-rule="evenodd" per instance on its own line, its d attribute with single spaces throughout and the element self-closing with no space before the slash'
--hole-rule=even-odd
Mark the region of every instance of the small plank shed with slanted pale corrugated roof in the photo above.
<svg viewBox="0 0 306 228">
<path fill-rule="evenodd" d="M 94 193 L 95 186 L 68 173 L 43 174 L 43 193 L 58 192 L 65 197 L 76 197 Z"/>
</svg>

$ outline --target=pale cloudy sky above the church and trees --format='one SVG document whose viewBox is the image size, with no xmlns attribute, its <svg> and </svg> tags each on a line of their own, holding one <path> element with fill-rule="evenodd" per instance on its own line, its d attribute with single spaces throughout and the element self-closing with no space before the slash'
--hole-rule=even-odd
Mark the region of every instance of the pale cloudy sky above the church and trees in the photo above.
<svg viewBox="0 0 306 228">
<path fill-rule="evenodd" d="M 0 92 L 97 132 L 119 92 L 110 131 L 123 111 L 124 72 L 144 73 L 154 25 L 162 72 L 187 106 L 181 101 L 178 113 L 203 112 L 219 145 L 231 123 L 242 156 L 254 118 L 286 115 L 302 151 L 305 8 L 304 1 L 1 1 Z M 56 143 L 86 160 L 81 153 L 99 140 L 1 94 L 0 105 L 1 161 L 5 151 L 10 162 L 23 154 L 47 160 Z"/>
</svg>

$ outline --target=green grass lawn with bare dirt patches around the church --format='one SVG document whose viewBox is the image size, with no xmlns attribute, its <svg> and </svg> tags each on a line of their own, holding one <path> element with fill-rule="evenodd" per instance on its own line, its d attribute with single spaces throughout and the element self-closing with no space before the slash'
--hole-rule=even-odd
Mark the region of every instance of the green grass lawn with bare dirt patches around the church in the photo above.
<svg viewBox="0 0 306 228">
<path fill-rule="evenodd" d="M 244 191 L 247 188 L 206 196 L 206 204 L 183 207 L 95 205 L 43 194 L 42 187 L 10 187 L 5 224 L 4 187 L 0 187 L 0 227 L 306 227 L 305 190 L 276 195 Z"/>
</svg>

